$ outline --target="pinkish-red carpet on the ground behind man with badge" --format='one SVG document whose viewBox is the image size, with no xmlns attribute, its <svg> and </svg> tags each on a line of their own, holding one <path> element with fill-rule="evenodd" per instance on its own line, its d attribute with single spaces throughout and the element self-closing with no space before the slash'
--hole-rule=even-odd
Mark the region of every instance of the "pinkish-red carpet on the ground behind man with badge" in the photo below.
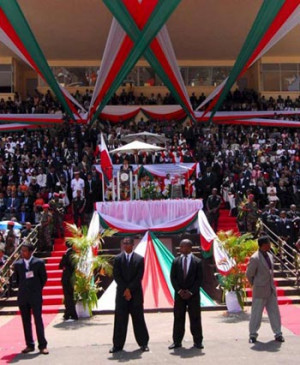
<svg viewBox="0 0 300 365">
<path fill-rule="evenodd" d="M 44 326 L 45 328 L 55 318 L 56 314 L 44 314 Z M 34 321 L 33 321 L 34 322 Z M 33 324 L 34 339 L 35 327 Z M 47 338 L 47 329 L 46 329 Z M 8 323 L 0 327 L 0 363 L 9 363 L 13 358 L 26 347 L 22 320 L 20 316 L 13 317 Z"/>
</svg>

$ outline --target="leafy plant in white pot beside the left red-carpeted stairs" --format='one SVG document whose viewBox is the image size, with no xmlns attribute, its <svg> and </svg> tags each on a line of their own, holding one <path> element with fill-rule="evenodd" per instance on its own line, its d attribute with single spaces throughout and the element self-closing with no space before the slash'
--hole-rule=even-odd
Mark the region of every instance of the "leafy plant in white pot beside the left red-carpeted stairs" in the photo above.
<svg viewBox="0 0 300 365">
<path fill-rule="evenodd" d="M 79 317 L 92 315 L 92 310 L 97 306 L 98 292 L 102 290 L 99 281 L 95 281 L 97 273 L 111 275 L 111 256 L 98 255 L 104 243 L 105 236 L 115 233 L 113 230 L 106 230 L 101 234 L 91 237 L 87 227 L 78 228 L 74 224 L 68 224 L 67 228 L 71 237 L 67 237 L 74 250 L 73 260 L 75 262 L 74 272 L 74 297 Z"/>
</svg>

